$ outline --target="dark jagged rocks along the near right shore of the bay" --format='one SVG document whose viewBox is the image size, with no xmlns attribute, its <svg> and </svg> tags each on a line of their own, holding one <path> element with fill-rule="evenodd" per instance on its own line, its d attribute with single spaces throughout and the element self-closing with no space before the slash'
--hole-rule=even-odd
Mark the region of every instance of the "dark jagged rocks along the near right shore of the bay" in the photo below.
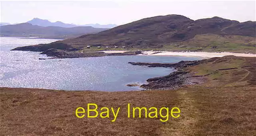
<svg viewBox="0 0 256 136">
<path fill-rule="evenodd" d="M 230 59 L 230 57 L 234 56 L 225 56 L 221 60 Z M 185 71 L 185 67 L 192 67 L 195 65 L 203 64 L 203 63 L 214 63 L 218 61 L 219 57 L 213 57 L 210 59 L 203 59 L 199 61 L 180 61 L 178 63 L 135 63 L 128 62 L 132 65 L 140 65 L 147 67 L 170 67 L 174 68 L 177 71 L 170 73 L 167 76 L 163 77 L 155 77 L 148 79 L 148 84 L 141 85 L 140 87 L 149 90 L 173 90 L 178 89 L 179 87 L 184 87 L 186 85 L 194 84 L 195 82 L 190 81 L 191 74 L 188 71 Z M 203 76 L 200 76 L 203 77 Z M 198 79 L 199 80 L 199 79 Z M 203 81 L 200 81 L 203 82 Z"/>
</svg>

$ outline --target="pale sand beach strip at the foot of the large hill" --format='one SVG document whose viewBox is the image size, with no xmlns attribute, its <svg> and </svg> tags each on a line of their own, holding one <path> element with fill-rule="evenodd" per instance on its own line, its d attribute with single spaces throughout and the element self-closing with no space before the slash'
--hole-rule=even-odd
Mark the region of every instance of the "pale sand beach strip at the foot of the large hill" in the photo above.
<svg viewBox="0 0 256 136">
<path fill-rule="evenodd" d="M 126 51 L 104 51 L 105 53 L 124 53 Z M 156 56 L 186 56 L 186 57 L 203 57 L 203 58 L 211 58 L 211 57 L 223 57 L 227 55 L 234 55 L 240 57 L 256 57 L 256 54 L 245 54 L 245 53 L 231 53 L 231 52 L 174 52 L 174 51 L 161 51 L 161 53 L 156 53 L 160 51 L 143 51 L 142 54 L 139 55 L 156 55 Z M 156 54 L 152 54 L 156 53 Z"/>
</svg>

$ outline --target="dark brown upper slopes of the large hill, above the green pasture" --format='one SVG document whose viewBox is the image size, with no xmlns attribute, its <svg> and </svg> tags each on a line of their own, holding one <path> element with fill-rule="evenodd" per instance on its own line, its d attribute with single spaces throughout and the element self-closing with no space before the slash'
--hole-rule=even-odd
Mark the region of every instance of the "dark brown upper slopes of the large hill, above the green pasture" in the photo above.
<svg viewBox="0 0 256 136">
<path fill-rule="evenodd" d="M 256 22 L 226 20 L 219 17 L 191 20 L 168 15 L 145 18 L 99 34 L 82 35 L 62 41 L 70 44 L 162 45 L 184 41 L 197 34 L 244 35 L 255 37 Z"/>
</svg>

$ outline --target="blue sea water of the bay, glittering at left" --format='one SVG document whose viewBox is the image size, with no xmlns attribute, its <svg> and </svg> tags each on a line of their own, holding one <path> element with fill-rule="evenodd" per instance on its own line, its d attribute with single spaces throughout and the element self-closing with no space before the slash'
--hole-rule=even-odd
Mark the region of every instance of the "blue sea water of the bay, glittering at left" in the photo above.
<svg viewBox="0 0 256 136">
<path fill-rule="evenodd" d="M 129 83 L 146 83 L 148 78 L 168 75 L 170 68 L 134 66 L 128 62 L 175 63 L 196 57 L 105 56 L 46 59 L 40 52 L 10 51 L 15 47 L 50 43 L 56 39 L 0 37 L 0 87 L 60 90 L 130 91 Z"/>
</svg>

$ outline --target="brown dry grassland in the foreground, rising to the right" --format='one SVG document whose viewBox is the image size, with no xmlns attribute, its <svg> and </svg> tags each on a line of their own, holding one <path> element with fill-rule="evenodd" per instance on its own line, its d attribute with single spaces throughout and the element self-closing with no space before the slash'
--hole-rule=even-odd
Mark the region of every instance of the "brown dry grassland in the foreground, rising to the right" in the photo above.
<svg viewBox="0 0 256 136">
<path fill-rule="evenodd" d="M 55 91 L 0 88 L 1 136 L 255 136 L 256 58 L 221 57 L 188 67 L 207 82 L 176 91 Z M 234 68 L 229 70 L 217 70 Z M 216 71 L 217 70 L 217 71 Z M 99 107 L 174 107 L 180 118 L 76 118 L 75 109 Z M 111 114 L 110 114 L 111 116 Z M 113 117 L 113 116 L 112 116 Z"/>
</svg>

